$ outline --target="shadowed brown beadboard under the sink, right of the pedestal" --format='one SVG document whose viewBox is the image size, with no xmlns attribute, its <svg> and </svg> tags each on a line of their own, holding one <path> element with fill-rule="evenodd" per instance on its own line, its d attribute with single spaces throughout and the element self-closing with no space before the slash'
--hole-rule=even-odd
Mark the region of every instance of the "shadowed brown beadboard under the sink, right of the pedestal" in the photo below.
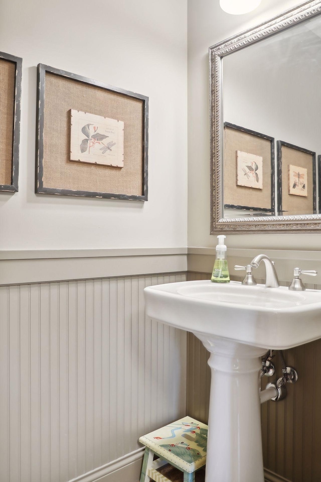
<svg viewBox="0 0 321 482">
<path fill-rule="evenodd" d="M 321 480 L 321 371 L 317 368 L 320 350 L 320 340 L 284 350 L 286 364 L 295 367 L 298 381 L 295 385 L 287 384 L 284 400 L 262 406 L 262 433 L 268 433 L 268 437 L 263 437 L 264 465 L 293 482 Z M 279 376 L 281 362 L 276 352 L 273 363 Z M 263 381 L 263 388 L 267 382 L 268 379 Z"/>
</svg>

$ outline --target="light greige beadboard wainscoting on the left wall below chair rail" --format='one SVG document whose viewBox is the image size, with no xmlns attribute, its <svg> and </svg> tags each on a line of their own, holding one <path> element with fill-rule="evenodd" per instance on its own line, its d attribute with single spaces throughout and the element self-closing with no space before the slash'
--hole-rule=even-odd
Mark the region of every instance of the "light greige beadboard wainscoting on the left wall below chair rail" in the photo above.
<svg viewBox="0 0 321 482">
<path fill-rule="evenodd" d="M 143 288 L 185 280 L 0 287 L 1 482 L 138 480 L 138 437 L 186 415 L 187 333 L 145 317 Z"/>
</svg>

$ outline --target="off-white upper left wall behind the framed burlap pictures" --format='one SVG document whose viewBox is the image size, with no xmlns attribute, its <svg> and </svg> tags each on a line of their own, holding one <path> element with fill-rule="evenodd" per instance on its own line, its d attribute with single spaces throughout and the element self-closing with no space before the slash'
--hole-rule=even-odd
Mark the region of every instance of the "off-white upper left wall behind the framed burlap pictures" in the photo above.
<svg viewBox="0 0 321 482">
<path fill-rule="evenodd" d="M 187 246 L 185 0 L 0 0 L 0 51 L 23 58 L 19 192 L 0 250 Z M 149 96 L 149 200 L 34 194 L 36 66 Z"/>
</svg>

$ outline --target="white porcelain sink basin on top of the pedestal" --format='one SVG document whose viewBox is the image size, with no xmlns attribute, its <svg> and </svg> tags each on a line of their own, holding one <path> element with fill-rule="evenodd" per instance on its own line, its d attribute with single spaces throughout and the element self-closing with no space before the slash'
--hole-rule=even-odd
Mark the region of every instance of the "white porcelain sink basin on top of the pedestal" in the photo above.
<svg viewBox="0 0 321 482">
<path fill-rule="evenodd" d="M 286 349 L 321 337 L 321 291 L 188 281 L 145 289 L 163 323 L 258 347 Z"/>
</svg>

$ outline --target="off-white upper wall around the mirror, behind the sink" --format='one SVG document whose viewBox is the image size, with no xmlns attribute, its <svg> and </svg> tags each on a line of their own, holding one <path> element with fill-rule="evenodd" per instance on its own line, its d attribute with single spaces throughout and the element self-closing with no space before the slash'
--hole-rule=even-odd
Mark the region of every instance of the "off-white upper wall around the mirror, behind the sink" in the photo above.
<svg viewBox="0 0 321 482">
<path fill-rule="evenodd" d="M 297 0 L 262 0 L 252 13 L 224 13 L 219 0 L 188 0 L 189 207 L 188 246 L 213 247 L 210 233 L 210 141 L 208 48 L 296 7 Z M 320 234 L 228 234 L 230 248 L 318 250 Z"/>
</svg>

